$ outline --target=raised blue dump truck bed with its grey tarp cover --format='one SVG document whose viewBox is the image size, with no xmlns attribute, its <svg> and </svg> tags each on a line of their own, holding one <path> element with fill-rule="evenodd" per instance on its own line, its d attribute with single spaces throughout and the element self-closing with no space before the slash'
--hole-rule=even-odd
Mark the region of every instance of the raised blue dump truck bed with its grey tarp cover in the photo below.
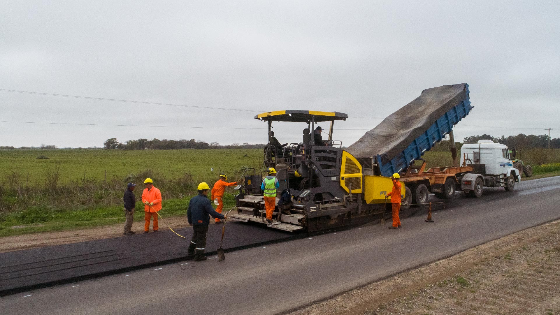
<svg viewBox="0 0 560 315">
<path fill-rule="evenodd" d="M 428 88 L 346 151 L 370 165 L 372 158 L 382 176 L 405 171 L 410 163 L 440 142 L 453 126 L 469 114 L 469 84 L 460 83 Z"/>
</svg>

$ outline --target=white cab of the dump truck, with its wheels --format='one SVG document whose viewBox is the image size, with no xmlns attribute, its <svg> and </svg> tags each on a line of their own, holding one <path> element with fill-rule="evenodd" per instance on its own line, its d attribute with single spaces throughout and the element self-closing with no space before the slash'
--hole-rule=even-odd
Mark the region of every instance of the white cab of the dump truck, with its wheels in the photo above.
<svg viewBox="0 0 560 315">
<path fill-rule="evenodd" d="M 470 195 L 482 195 L 482 187 L 505 187 L 514 189 L 521 181 L 519 171 L 514 168 L 506 145 L 492 140 L 479 140 L 478 143 L 463 144 L 461 165 L 475 166 L 476 173 L 466 174 L 461 180 L 461 189 Z M 479 165 L 480 167 L 476 167 Z M 484 167 L 482 167 L 484 166 Z M 477 181 L 477 178 L 479 180 Z"/>
</svg>

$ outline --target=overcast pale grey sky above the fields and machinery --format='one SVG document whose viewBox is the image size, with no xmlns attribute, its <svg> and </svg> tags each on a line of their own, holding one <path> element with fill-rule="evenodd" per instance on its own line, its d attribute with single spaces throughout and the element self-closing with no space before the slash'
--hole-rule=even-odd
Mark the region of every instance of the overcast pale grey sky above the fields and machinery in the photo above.
<svg viewBox="0 0 560 315">
<path fill-rule="evenodd" d="M 463 82 L 475 108 L 458 140 L 558 138 L 558 21 L 557 0 L 3 0 L 0 89 L 250 111 L 0 91 L 1 121 L 202 127 L 0 123 L 0 145 L 265 143 L 254 115 L 284 109 L 346 112 L 334 138 L 349 145 L 422 90 Z M 275 130 L 284 143 L 302 128 Z"/>
</svg>

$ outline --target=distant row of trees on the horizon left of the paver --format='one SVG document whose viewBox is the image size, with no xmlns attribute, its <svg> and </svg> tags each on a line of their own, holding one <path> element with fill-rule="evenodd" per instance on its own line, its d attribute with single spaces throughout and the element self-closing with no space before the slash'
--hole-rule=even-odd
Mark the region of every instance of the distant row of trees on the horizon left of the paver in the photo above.
<svg viewBox="0 0 560 315">
<path fill-rule="evenodd" d="M 108 150 L 175 150 L 175 149 L 261 149 L 265 144 L 233 143 L 230 145 L 220 145 L 217 142 L 203 142 L 200 140 L 167 140 L 167 139 L 137 139 L 119 142 L 116 138 L 107 139 L 103 143 L 103 148 Z"/>
</svg>

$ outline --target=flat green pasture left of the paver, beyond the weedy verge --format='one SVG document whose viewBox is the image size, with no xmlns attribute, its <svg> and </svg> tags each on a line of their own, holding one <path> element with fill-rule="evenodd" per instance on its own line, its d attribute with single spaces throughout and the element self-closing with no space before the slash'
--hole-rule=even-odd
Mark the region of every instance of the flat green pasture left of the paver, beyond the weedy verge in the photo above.
<svg viewBox="0 0 560 315">
<path fill-rule="evenodd" d="M 37 159 L 44 155 L 49 159 Z M 246 155 L 246 156 L 245 156 Z M 190 173 L 196 178 L 214 178 L 220 172 L 239 172 L 244 167 L 260 167 L 261 149 L 215 150 L 0 150 L 0 176 L 13 171 L 21 173 L 20 185 L 43 185 L 45 170 L 54 164 L 62 168 L 60 184 L 82 181 L 126 178 L 131 173 L 151 170 L 176 177 Z M 212 171 L 212 168 L 214 171 Z M 4 180 L 4 178 L 2 178 Z"/>
</svg>

